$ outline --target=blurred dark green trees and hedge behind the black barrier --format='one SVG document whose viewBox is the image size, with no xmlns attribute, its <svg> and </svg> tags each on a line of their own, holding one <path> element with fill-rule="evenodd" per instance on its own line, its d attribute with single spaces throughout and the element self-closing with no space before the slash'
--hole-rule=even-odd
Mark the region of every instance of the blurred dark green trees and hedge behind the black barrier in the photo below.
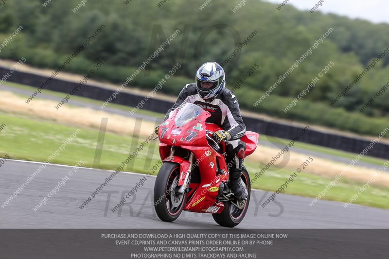
<svg viewBox="0 0 389 259">
<path fill-rule="evenodd" d="M 160 91 L 177 95 L 194 81 L 195 70 L 206 61 L 222 63 L 253 31 L 257 34 L 227 65 L 227 86 L 232 88 L 254 64 L 260 66 L 234 93 L 241 107 L 272 116 L 322 124 L 362 134 L 376 134 L 388 122 L 387 96 L 377 99 L 363 114 L 358 109 L 389 79 L 389 58 L 383 58 L 346 96 L 329 104 L 371 60 L 389 47 L 389 25 L 372 24 L 335 15 L 310 14 L 288 5 L 247 1 L 236 13 L 237 2 L 212 0 L 203 10 L 197 1 L 171 0 L 160 8 L 140 0 L 94 0 L 73 13 L 80 0 L 53 0 L 46 7 L 39 0 L 12 0 L 1 6 L 0 39 L 23 26 L 22 32 L 0 52 L 0 58 L 57 69 L 102 24 L 96 36 L 66 71 L 87 74 L 94 64 L 107 62 L 94 79 L 122 84 L 176 30 L 180 33 L 128 87 L 154 88 L 177 62 L 182 68 Z M 217 6 L 217 8 L 215 8 Z M 253 104 L 328 29 L 333 32 L 297 69 L 257 107 Z M 235 54 L 234 54 L 235 55 Z M 297 95 L 330 62 L 314 89 L 288 113 L 283 112 Z M 388 90 L 389 91 L 389 90 Z M 373 118 L 371 118 L 373 117 Z"/>
</svg>

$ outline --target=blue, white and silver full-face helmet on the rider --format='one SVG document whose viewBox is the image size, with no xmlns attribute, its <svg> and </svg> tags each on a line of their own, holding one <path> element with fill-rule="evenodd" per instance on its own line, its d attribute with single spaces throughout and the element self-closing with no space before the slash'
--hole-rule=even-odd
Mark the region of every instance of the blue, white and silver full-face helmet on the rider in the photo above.
<svg viewBox="0 0 389 259">
<path fill-rule="evenodd" d="M 202 88 L 201 82 L 213 83 L 211 88 Z M 196 88 L 202 99 L 216 96 L 226 86 L 226 75 L 223 68 L 216 62 L 207 62 L 201 65 L 196 72 Z"/>
</svg>

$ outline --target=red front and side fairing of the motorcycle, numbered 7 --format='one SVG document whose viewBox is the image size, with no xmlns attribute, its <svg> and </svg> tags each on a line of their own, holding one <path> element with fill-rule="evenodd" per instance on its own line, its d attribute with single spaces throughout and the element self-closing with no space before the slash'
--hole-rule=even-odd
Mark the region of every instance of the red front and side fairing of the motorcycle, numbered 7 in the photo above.
<svg viewBox="0 0 389 259">
<path fill-rule="evenodd" d="M 195 105 L 195 104 L 191 104 Z M 195 105 L 196 107 L 199 107 Z M 192 197 L 186 203 L 184 210 L 199 213 L 221 213 L 224 205 L 215 205 L 218 188 L 221 182 L 229 178 L 228 168 L 224 156 L 217 153 L 209 144 L 206 138 L 206 126 L 215 131 L 218 126 L 206 124 L 211 114 L 202 108 L 198 116 L 176 123 L 179 111 L 175 110 L 173 115 L 159 126 L 159 154 L 164 162 L 174 162 L 180 167 L 180 182 L 183 184 L 189 168 L 189 162 L 179 155 L 170 154 L 171 146 L 178 146 L 192 152 L 196 159 L 196 166 L 200 177 L 189 185 L 189 193 Z M 179 150 L 179 149 L 177 149 Z M 178 152 L 177 152 L 178 153 Z M 216 171 L 216 169 L 219 169 Z M 219 173 L 220 172 L 220 173 Z M 219 174 L 218 174 L 219 173 Z M 192 179 L 192 178 L 191 178 Z"/>
</svg>

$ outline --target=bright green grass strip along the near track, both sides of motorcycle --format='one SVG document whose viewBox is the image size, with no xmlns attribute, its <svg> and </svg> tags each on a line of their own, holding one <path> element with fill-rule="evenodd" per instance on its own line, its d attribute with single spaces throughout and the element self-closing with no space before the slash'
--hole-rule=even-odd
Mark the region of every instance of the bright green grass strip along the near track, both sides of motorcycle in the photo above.
<svg viewBox="0 0 389 259">
<path fill-rule="evenodd" d="M 7 154 L 14 159 L 41 162 L 53 155 L 63 141 L 70 138 L 77 130 L 76 127 L 53 124 L 50 121 L 41 121 L 31 116 L 17 117 L 0 112 L 0 125 L 2 123 L 6 124 L 6 127 L 0 132 L 0 156 Z M 99 132 L 98 130 L 85 128 L 80 128 L 80 130 L 77 137 L 71 141 L 71 144 L 53 158 L 52 163 L 73 166 L 81 159 L 85 162 L 85 167 L 93 166 Z M 140 141 L 144 141 L 144 138 L 139 138 L 139 143 Z M 130 150 L 136 150 L 137 142 L 136 138 L 106 133 L 101 160 L 93 167 L 115 170 L 129 155 Z M 157 141 L 154 141 L 151 145 L 146 146 L 135 159 L 130 161 L 129 166 L 124 171 L 153 174 L 154 170 L 151 170 L 151 168 L 154 166 L 158 171 L 159 154 L 158 145 L 156 144 Z M 151 149 L 150 152 L 149 149 Z M 245 162 L 245 165 L 251 177 L 260 170 L 255 163 Z M 268 171 L 253 183 L 252 188 L 275 191 L 291 173 L 293 172 L 285 169 Z M 308 173 L 300 173 L 296 180 L 288 185 L 285 193 L 316 197 L 332 180 Z M 327 192 L 323 199 L 347 202 L 362 185 L 363 183 L 342 178 Z M 355 203 L 388 209 L 388 198 L 388 188 L 371 186 L 359 195 Z"/>
</svg>

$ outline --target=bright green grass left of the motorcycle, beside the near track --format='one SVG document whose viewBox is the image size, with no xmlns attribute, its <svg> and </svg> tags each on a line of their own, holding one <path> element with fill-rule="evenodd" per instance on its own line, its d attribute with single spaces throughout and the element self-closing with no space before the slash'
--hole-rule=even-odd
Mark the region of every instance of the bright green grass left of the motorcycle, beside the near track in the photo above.
<svg viewBox="0 0 389 259">
<path fill-rule="evenodd" d="M 76 132 L 76 127 L 54 124 L 50 121 L 31 120 L 31 117 L 13 117 L 0 112 L 0 123 L 6 127 L 0 132 L 0 154 L 8 154 L 14 159 L 43 162 Z M 99 132 L 93 129 L 81 128 L 77 137 L 67 145 L 65 150 L 56 155 L 51 163 L 75 165 L 82 159 L 85 167 L 115 170 L 136 149 L 137 143 L 131 148 L 132 138 L 106 133 L 100 162 L 93 165 Z M 140 138 L 140 141 L 144 140 Z M 155 142 L 151 147 L 155 145 Z M 157 147 L 155 147 L 157 150 Z M 158 154 L 154 152 L 151 162 L 158 162 Z M 53 156 L 52 156 L 53 157 Z M 140 165 L 140 160 L 146 160 L 147 153 L 141 152 L 129 163 L 126 170 L 146 173 L 149 168 Z M 135 162 L 138 161 L 138 162 Z"/>
</svg>

